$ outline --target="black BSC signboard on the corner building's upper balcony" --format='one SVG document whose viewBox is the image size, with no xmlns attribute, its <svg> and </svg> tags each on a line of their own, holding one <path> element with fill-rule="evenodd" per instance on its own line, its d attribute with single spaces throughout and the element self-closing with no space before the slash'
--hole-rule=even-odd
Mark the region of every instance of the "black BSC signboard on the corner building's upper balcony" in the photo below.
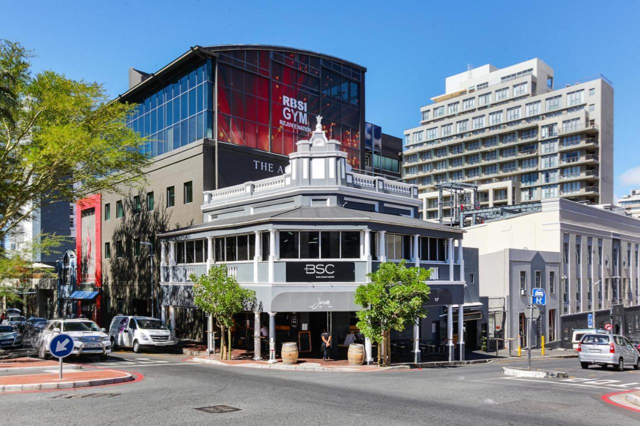
<svg viewBox="0 0 640 426">
<path fill-rule="evenodd" d="M 355 280 L 355 262 L 287 262 L 289 283 L 353 283 Z"/>
</svg>

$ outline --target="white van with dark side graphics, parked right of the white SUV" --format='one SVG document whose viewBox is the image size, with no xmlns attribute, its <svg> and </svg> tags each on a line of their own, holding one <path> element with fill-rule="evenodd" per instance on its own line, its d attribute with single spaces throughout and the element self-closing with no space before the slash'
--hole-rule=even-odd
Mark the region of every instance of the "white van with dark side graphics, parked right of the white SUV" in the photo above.
<svg viewBox="0 0 640 426">
<path fill-rule="evenodd" d="M 117 315 L 109 326 L 111 347 L 130 347 L 139 353 L 141 347 L 173 346 L 177 342 L 164 323 L 151 317 Z"/>
</svg>

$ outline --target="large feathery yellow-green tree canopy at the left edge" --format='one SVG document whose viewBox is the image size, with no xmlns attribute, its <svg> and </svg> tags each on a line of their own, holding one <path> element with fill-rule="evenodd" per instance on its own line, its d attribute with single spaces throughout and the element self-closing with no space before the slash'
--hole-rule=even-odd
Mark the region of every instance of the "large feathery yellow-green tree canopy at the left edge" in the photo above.
<svg viewBox="0 0 640 426">
<path fill-rule="evenodd" d="M 0 239 L 44 205 L 143 180 L 144 138 L 131 104 L 103 86 L 31 73 L 31 52 L 0 40 Z"/>
</svg>

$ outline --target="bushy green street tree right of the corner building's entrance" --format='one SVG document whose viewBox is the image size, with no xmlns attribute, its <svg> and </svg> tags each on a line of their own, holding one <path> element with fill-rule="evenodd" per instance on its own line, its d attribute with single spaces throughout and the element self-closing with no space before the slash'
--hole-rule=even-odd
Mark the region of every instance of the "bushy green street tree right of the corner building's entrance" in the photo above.
<svg viewBox="0 0 640 426">
<path fill-rule="evenodd" d="M 356 289 L 355 301 L 364 310 L 356 312 L 362 334 L 378 343 L 378 365 L 390 365 L 390 333 L 412 326 L 427 312 L 429 300 L 426 280 L 431 271 L 406 267 L 400 263 L 383 262 L 369 274 L 371 283 Z"/>
</svg>

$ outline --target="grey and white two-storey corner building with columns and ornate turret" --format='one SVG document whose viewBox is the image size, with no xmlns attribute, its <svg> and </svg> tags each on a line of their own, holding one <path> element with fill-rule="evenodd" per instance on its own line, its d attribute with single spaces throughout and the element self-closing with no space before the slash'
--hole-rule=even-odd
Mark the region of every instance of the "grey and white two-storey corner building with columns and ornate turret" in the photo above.
<svg viewBox="0 0 640 426">
<path fill-rule="evenodd" d="M 159 235 L 163 319 L 184 327 L 173 310 L 196 309 L 189 276 L 226 264 L 258 300 L 255 312 L 237 317 L 234 344 L 261 359 L 268 345 L 260 328 L 268 321 L 272 358 L 282 342 L 298 342 L 301 356 L 318 356 L 323 329 L 338 343 L 332 345 L 338 358 L 362 309 L 356 288 L 381 262 L 404 259 L 432 269 L 429 305 L 450 307 L 444 346 L 452 357 L 454 333 L 462 335 L 464 323 L 459 309 L 456 333 L 452 313 L 466 287 L 463 232 L 421 220 L 416 185 L 353 172 L 340 142 L 328 140 L 320 125 L 296 145 L 284 175 L 205 191 L 202 225 Z M 426 328 L 413 329 L 415 355 L 420 340 L 432 340 Z M 464 349 L 463 338 L 456 340 Z M 371 359 L 371 344 L 364 343 Z"/>
</svg>

